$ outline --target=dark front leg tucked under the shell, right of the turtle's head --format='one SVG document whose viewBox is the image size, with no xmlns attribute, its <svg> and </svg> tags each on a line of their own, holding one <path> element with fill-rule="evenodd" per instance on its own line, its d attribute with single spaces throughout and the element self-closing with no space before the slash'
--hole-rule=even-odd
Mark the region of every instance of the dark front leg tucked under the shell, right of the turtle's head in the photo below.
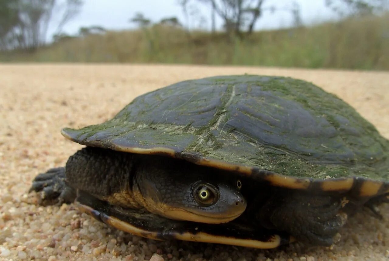
<svg viewBox="0 0 389 261">
<path fill-rule="evenodd" d="M 308 245 L 334 243 L 346 217 L 340 215 L 341 200 L 298 191 L 274 193 L 259 212 L 266 228 L 286 231 Z"/>
</svg>

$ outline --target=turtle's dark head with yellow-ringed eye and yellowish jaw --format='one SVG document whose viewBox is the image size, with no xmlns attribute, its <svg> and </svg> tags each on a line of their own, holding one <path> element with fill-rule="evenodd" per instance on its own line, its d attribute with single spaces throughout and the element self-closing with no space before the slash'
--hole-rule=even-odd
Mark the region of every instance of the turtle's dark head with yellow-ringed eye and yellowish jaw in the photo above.
<svg viewBox="0 0 389 261">
<path fill-rule="evenodd" d="M 169 219 L 229 222 L 246 209 L 242 182 L 215 172 L 177 159 L 149 163 L 136 173 L 133 193 L 147 210 Z"/>
</svg>

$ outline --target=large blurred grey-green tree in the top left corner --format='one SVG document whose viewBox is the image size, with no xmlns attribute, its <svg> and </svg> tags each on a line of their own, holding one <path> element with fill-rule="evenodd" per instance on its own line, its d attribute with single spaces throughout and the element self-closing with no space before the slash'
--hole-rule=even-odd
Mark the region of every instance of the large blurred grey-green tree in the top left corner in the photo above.
<svg viewBox="0 0 389 261">
<path fill-rule="evenodd" d="M 35 50 L 43 46 L 50 23 L 59 21 L 54 35 L 60 35 L 81 5 L 81 0 L 1 0 L 1 49 Z"/>
</svg>

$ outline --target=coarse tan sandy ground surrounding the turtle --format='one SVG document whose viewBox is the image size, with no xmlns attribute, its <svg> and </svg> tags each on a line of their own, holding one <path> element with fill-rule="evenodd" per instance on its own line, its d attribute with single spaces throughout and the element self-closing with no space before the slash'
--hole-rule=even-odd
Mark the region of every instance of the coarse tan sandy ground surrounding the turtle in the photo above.
<svg viewBox="0 0 389 261">
<path fill-rule="evenodd" d="M 32 179 L 63 166 L 81 145 L 60 129 L 101 123 L 136 96 L 186 79 L 228 74 L 283 75 L 343 98 L 389 138 L 389 73 L 259 67 L 162 65 L 0 65 L 0 259 L 65 260 L 388 260 L 386 221 L 365 211 L 330 248 L 292 244 L 256 250 L 158 242 L 109 228 L 73 205 L 41 207 Z"/>
</svg>

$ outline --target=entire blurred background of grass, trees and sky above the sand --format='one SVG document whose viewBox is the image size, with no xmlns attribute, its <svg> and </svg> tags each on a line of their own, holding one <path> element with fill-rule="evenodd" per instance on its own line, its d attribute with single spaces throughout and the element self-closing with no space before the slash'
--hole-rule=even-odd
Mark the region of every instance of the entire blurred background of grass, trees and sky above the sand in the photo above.
<svg viewBox="0 0 389 261">
<path fill-rule="evenodd" d="M 389 70 L 389 0 L 0 0 L 0 61 Z"/>
</svg>

